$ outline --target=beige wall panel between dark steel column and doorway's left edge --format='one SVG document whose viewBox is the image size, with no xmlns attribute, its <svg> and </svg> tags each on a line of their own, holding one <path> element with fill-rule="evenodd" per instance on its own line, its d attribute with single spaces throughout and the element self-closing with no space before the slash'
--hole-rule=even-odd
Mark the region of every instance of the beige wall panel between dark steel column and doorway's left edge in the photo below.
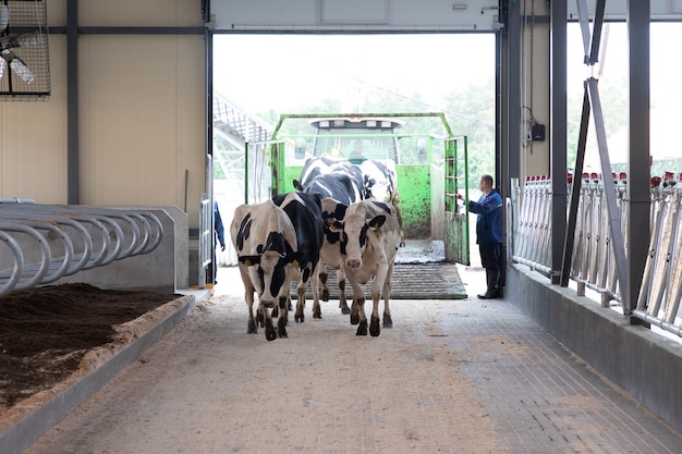
<svg viewBox="0 0 682 454">
<path fill-rule="evenodd" d="M 193 36 L 82 38 L 82 203 L 182 207 L 185 169 L 198 200 L 203 48 Z"/>
</svg>

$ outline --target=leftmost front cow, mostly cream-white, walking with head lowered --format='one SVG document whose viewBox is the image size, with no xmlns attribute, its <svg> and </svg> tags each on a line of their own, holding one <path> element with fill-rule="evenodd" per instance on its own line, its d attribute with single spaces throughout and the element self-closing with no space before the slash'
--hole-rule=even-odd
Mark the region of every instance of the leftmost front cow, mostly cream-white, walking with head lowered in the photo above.
<svg viewBox="0 0 682 454">
<path fill-rule="evenodd" d="M 265 338 L 287 338 L 287 304 L 300 257 L 296 232 L 289 216 L 272 200 L 240 205 L 234 210 L 230 236 L 238 254 L 248 306 L 247 333 L 256 333 L 256 321 L 265 326 Z M 254 319 L 254 291 L 258 292 Z M 277 332 L 269 308 L 279 307 Z"/>
</svg>

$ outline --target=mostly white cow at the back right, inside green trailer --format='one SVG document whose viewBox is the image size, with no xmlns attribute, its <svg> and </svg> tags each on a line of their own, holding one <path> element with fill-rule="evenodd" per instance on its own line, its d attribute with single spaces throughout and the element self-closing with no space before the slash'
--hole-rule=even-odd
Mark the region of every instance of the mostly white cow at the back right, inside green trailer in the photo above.
<svg viewBox="0 0 682 454">
<path fill-rule="evenodd" d="M 405 245 L 400 196 L 398 194 L 398 173 L 395 162 L 390 159 L 367 159 L 360 164 L 365 185 L 365 197 L 374 198 L 395 208 L 400 223 L 400 246 Z"/>
</svg>

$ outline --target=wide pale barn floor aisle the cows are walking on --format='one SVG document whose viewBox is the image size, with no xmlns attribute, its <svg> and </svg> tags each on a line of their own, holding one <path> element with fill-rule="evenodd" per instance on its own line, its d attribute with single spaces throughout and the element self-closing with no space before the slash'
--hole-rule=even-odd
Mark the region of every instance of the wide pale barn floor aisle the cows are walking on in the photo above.
<svg viewBox="0 0 682 454">
<path fill-rule="evenodd" d="M 504 300 L 395 300 L 355 336 L 334 302 L 246 334 L 234 269 L 26 453 L 680 453 L 682 438 Z M 309 316 L 308 305 L 306 316 Z"/>
</svg>

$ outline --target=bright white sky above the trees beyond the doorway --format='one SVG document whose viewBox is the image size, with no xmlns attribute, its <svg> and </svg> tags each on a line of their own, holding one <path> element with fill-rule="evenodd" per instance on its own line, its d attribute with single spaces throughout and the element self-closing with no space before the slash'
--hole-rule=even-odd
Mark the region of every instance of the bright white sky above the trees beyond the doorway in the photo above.
<svg viewBox="0 0 682 454">
<path fill-rule="evenodd" d="M 218 35 L 215 87 L 253 112 L 343 99 L 360 83 L 440 102 L 492 78 L 492 35 Z"/>
</svg>

